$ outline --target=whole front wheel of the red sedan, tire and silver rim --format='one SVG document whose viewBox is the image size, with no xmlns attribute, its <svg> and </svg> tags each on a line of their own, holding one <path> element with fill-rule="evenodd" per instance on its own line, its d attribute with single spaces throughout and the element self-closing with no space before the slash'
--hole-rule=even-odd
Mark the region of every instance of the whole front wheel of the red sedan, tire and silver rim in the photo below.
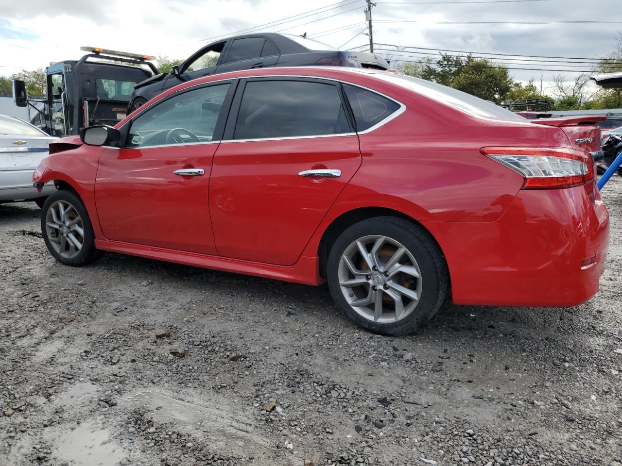
<svg viewBox="0 0 622 466">
<path fill-rule="evenodd" d="M 85 205 L 73 191 L 56 191 L 45 199 L 41 232 L 50 254 L 65 265 L 86 265 L 103 254 L 95 248 L 95 234 Z"/>
</svg>

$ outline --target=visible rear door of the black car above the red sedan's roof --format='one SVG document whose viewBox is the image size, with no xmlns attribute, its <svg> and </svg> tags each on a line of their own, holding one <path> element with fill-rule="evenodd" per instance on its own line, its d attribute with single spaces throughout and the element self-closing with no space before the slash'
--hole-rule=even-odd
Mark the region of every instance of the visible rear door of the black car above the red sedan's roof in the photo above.
<svg viewBox="0 0 622 466">
<path fill-rule="evenodd" d="M 227 48 L 224 60 L 218 66 L 218 73 L 226 71 L 269 68 L 279 60 L 279 49 L 264 37 L 243 37 L 235 39 Z"/>
</svg>

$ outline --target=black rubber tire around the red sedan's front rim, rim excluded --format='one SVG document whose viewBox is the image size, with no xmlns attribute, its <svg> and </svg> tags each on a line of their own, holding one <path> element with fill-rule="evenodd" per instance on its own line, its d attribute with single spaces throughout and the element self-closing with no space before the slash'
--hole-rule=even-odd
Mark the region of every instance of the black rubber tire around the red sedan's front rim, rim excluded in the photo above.
<svg viewBox="0 0 622 466">
<path fill-rule="evenodd" d="M 46 226 L 46 217 L 50 208 L 53 204 L 57 203 L 57 201 L 63 201 L 64 203 L 71 204 L 75 211 L 78 212 L 81 219 L 81 225 L 84 232 L 82 246 L 77 255 L 73 257 L 65 257 L 64 255 L 59 254 L 50 241 L 48 228 Z M 93 233 L 93 226 L 90 218 L 88 217 L 88 212 L 86 212 L 86 208 L 80 199 L 80 196 L 73 191 L 58 190 L 45 198 L 45 203 L 41 209 L 41 233 L 43 234 L 45 245 L 50 251 L 50 254 L 52 254 L 58 262 L 65 265 L 72 265 L 73 267 L 87 265 L 95 262 L 104 254 L 103 251 L 95 248 L 95 233 Z"/>
</svg>

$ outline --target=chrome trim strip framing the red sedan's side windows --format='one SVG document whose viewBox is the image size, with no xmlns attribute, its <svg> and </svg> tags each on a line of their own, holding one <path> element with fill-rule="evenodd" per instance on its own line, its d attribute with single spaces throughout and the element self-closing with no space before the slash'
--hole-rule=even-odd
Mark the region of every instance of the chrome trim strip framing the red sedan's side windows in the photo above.
<svg viewBox="0 0 622 466">
<path fill-rule="evenodd" d="M 367 76 L 367 75 L 366 75 Z M 371 76 L 371 75 L 369 75 Z M 379 96 L 383 96 L 386 99 L 389 99 L 393 102 L 395 102 L 396 104 L 398 104 L 400 107 L 399 109 L 397 109 L 396 111 L 394 111 L 391 115 L 389 115 L 388 117 L 384 118 L 383 120 L 379 121 L 378 123 L 376 123 L 374 126 L 369 127 L 366 130 L 363 130 L 361 132 L 351 132 L 351 133 L 339 133 L 339 134 L 320 134 L 320 135 L 313 135 L 313 136 L 287 136 L 287 137 L 267 137 L 267 138 L 258 138 L 258 139 L 225 139 L 222 141 L 214 141 L 214 142 L 221 142 L 223 144 L 225 144 L 226 142 L 251 142 L 251 141 L 276 141 L 276 140 L 290 140 L 290 139 L 309 139 L 312 137 L 336 137 L 336 136 L 351 136 L 351 135 L 361 135 L 361 134 L 369 134 L 370 132 L 378 129 L 381 126 L 384 126 L 385 124 L 387 124 L 388 122 L 392 121 L 393 119 L 397 118 L 398 116 L 400 116 L 402 113 L 404 113 L 406 111 L 406 104 L 400 102 L 399 100 L 396 100 L 386 94 L 383 94 L 379 91 L 376 91 L 374 89 L 370 89 L 366 86 L 362 86 L 360 84 L 357 83 L 351 83 L 350 81 L 343 81 L 343 80 L 338 80 L 335 78 L 325 78 L 323 76 L 309 76 L 309 75 L 261 75 L 261 76 L 241 76 L 238 78 L 223 78 L 221 80 L 215 80 L 215 81 L 209 81 L 207 83 L 200 83 L 200 84 L 195 84 L 192 86 L 188 86 L 187 88 L 183 88 L 180 89 L 179 92 L 182 91 L 188 91 L 189 89 L 195 88 L 195 87 L 199 87 L 199 86 L 205 86 L 205 85 L 211 85 L 213 83 L 218 83 L 220 81 L 231 81 L 231 80 L 256 80 L 256 79 L 264 79 L 264 78 L 305 78 L 305 79 L 310 79 L 310 80 L 325 80 L 325 81 L 334 81 L 335 83 L 342 83 L 342 84 L 348 84 L 350 86 L 356 86 L 358 88 L 361 89 L 366 89 L 369 92 L 373 92 L 374 94 L 378 94 Z M 170 94 L 169 97 L 174 96 L 175 93 Z M 157 104 L 157 103 L 154 103 Z M 152 107 L 153 105 L 150 105 L 149 107 Z M 149 109 L 149 107 L 146 107 L 145 111 L 147 111 Z M 143 112 L 138 112 L 136 114 L 136 118 L 139 117 Z M 119 127 L 119 130 L 121 128 L 123 128 L 123 126 L 125 126 L 126 124 L 128 124 L 129 122 L 132 122 L 134 120 L 134 118 L 129 119 L 127 122 L 125 122 L 122 126 Z M 190 143 L 190 144 L 198 144 L 198 143 Z M 169 147 L 167 146 L 144 146 L 144 147 Z M 175 146 L 177 147 L 177 146 Z M 124 148 L 134 148 L 134 147 L 124 147 Z"/>
</svg>

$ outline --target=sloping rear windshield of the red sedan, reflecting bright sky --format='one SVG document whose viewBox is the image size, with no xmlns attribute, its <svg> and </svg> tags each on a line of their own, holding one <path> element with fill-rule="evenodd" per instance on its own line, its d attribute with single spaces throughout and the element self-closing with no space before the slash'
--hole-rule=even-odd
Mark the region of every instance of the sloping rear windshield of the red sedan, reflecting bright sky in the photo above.
<svg viewBox="0 0 622 466">
<path fill-rule="evenodd" d="M 503 107 L 499 107 L 497 104 L 480 99 L 479 97 L 471 96 L 471 94 L 458 91 L 457 89 L 432 83 L 432 81 L 425 81 L 399 73 L 378 73 L 374 76 L 404 88 L 411 89 L 416 93 L 452 106 L 470 115 L 501 119 L 524 119 L 522 116 L 504 109 Z"/>
</svg>

